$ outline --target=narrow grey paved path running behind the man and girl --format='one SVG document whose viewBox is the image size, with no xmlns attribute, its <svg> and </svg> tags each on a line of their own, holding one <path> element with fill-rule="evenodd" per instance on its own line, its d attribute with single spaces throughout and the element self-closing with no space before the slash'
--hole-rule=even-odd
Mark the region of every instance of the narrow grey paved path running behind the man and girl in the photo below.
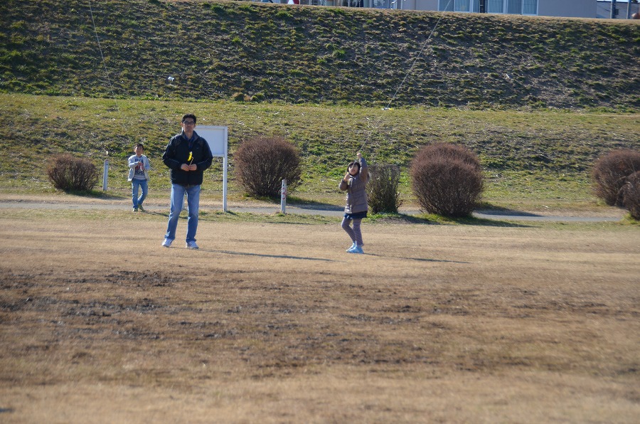
<svg viewBox="0 0 640 424">
<path fill-rule="evenodd" d="M 129 201 L 105 201 L 102 199 L 87 199 L 83 202 L 68 202 L 68 201 L 18 201 L 18 200 L 0 200 L 0 208 L 2 209 L 112 209 L 122 210 L 129 208 Z M 158 204 L 145 204 L 144 208 L 149 212 L 163 212 L 166 213 L 169 210 L 168 205 Z M 222 209 L 222 205 L 201 205 L 201 208 L 213 208 L 215 210 Z M 230 205 L 228 211 L 233 212 L 247 212 L 247 213 L 277 213 L 279 212 L 279 205 Z M 306 215 L 321 215 L 321 216 L 343 216 L 343 208 L 341 206 L 287 206 L 287 213 L 297 213 Z M 400 213 L 405 215 L 419 215 L 420 211 L 417 209 L 400 210 Z M 548 216 L 536 213 L 518 213 L 517 211 L 476 211 L 473 213 L 476 218 L 494 219 L 500 221 L 556 221 L 556 222 L 608 222 L 608 221 L 620 221 L 620 216 Z"/>
</svg>

